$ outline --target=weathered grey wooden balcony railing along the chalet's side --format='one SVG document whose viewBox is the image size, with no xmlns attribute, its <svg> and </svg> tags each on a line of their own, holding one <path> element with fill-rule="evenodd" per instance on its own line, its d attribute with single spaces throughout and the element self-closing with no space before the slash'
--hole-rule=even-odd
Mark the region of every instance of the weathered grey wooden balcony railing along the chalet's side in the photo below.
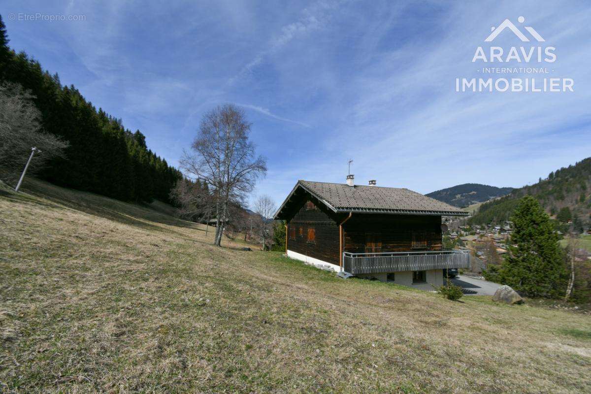
<svg viewBox="0 0 591 394">
<path fill-rule="evenodd" d="M 425 271 L 427 269 L 469 267 L 469 250 L 343 253 L 344 271 L 353 275 L 359 273 Z"/>
</svg>

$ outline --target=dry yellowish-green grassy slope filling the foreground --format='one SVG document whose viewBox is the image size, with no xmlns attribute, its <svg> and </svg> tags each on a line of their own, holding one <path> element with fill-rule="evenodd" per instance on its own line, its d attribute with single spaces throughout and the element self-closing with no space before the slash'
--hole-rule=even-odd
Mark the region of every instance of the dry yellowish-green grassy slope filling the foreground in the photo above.
<svg viewBox="0 0 591 394">
<path fill-rule="evenodd" d="M 2 392 L 591 390 L 589 315 L 344 281 L 152 209 L 25 191 L 0 190 Z"/>
</svg>

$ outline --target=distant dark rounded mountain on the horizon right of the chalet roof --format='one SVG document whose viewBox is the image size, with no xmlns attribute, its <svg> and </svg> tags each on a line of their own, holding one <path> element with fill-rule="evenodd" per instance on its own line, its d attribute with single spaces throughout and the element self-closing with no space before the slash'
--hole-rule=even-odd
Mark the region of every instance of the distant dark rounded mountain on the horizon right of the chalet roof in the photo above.
<svg viewBox="0 0 591 394">
<path fill-rule="evenodd" d="M 433 191 L 428 197 L 443 201 L 454 207 L 467 207 L 472 204 L 482 203 L 493 198 L 506 196 L 511 193 L 512 187 L 495 187 L 479 183 L 465 183 L 446 189 Z"/>
</svg>

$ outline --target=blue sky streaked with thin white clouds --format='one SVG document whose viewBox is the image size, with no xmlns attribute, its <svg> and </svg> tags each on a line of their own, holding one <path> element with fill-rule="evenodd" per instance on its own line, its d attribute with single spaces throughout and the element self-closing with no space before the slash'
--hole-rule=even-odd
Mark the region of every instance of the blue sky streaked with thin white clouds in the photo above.
<svg viewBox="0 0 591 394">
<path fill-rule="evenodd" d="M 21 0 L 0 12 L 12 48 L 140 129 L 170 164 L 204 112 L 243 106 L 268 159 L 255 195 L 277 204 L 298 179 L 344 182 L 348 158 L 356 183 L 428 193 L 519 187 L 591 155 L 583 1 Z M 573 78 L 574 92 L 456 92 L 456 77 L 478 76 L 471 60 L 491 27 L 519 16 L 556 47 L 552 76 Z M 498 40 L 523 44 L 511 32 Z"/>
</svg>

